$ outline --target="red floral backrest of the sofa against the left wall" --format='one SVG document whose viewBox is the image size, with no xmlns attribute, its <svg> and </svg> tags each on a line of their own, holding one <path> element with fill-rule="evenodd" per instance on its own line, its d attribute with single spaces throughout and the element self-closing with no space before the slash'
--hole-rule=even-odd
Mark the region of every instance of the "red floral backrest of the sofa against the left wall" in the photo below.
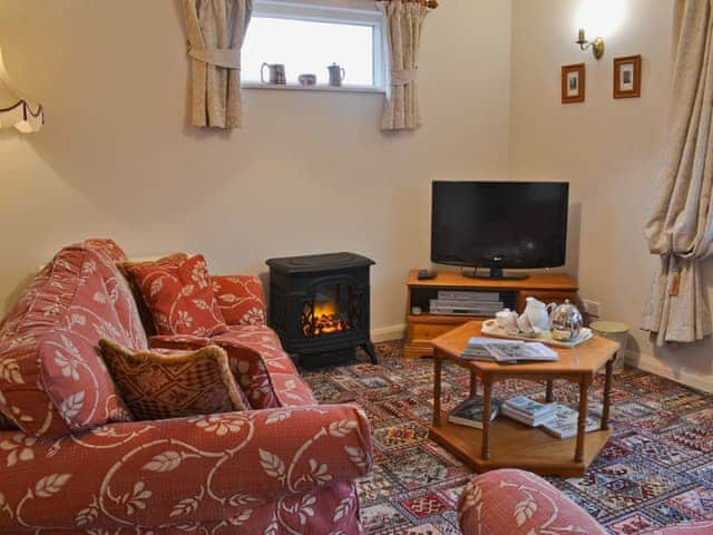
<svg viewBox="0 0 713 535">
<path fill-rule="evenodd" d="M 64 249 L 2 322 L 0 411 L 28 435 L 53 437 L 130 419 L 96 352 L 105 337 L 147 347 L 114 265 L 119 251 L 109 241 Z"/>
</svg>

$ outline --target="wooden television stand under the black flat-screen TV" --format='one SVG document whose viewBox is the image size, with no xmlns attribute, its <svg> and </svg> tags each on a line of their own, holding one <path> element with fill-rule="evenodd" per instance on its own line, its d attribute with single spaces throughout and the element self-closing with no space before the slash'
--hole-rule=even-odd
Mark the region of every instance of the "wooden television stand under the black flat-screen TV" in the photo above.
<svg viewBox="0 0 713 535">
<path fill-rule="evenodd" d="M 409 272 L 407 282 L 407 338 L 403 354 L 410 358 L 431 357 L 433 348 L 430 341 L 455 327 L 472 320 L 486 320 L 477 315 L 441 315 L 429 313 L 429 301 L 438 298 L 439 290 L 486 291 L 500 294 L 505 307 L 525 310 L 525 298 L 531 295 L 545 303 L 563 303 L 566 299 L 577 302 L 577 284 L 565 273 L 530 273 L 527 279 L 472 279 L 460 272 L 442 271 L 434 279 L 419 281 L 418 270 Z M 421 314 L 413 315 L 411 309 L 419 307 Z"/>
</svg>

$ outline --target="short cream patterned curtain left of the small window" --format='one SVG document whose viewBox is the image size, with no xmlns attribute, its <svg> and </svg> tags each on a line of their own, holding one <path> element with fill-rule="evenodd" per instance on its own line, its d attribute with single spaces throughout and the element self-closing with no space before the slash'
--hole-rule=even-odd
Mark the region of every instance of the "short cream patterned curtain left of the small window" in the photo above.
<svg viewBox="0 0 713 535">
<path fill-rule="evenodd" d="M 253 0 L 184 0 L 184 8 L 193 64 L 193 124 L 240 127 L 241 47 Z"/>
</svg>

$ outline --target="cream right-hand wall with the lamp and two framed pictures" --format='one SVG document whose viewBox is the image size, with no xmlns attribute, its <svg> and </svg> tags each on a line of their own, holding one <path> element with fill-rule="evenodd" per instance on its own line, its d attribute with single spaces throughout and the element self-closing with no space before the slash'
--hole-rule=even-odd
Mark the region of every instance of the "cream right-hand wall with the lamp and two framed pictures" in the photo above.
<svg viewBox="0 0 713 535">
<path fill-rule="evenodd" d="M 573 43 L 584 0 L 512 2 L 510 176 L 572 181 L 573 203 L 582 206 L 574 270 L 582 295 L 599 300 L 606 318 L 634 327 L 633 363 L 713 390 L 710 341 L 657 348 L 638 330 L 654 268 L 643 226 L 668 99 L 673 0 L 616 1 L 624 17 L 605 36 L 600 61 Z M 643 55 L 642 98 L 614 100 L 613 58 L 634 54 Z M 560 66 L 580 61 L 586 103 L 561 105 Z M 706 281 L 710 288 L 713 276 Z"/>
</svg>

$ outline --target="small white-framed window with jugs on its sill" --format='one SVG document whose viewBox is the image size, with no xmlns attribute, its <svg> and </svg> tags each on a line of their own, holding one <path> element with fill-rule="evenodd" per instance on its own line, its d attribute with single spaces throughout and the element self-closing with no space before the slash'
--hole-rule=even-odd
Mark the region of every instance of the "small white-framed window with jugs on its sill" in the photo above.
<svg viewBox="0 0 713 535">
<path fill-rule="evenodd" d="M 242 49 L 243 81 L 254 87 L 261 84 L 263 64 L 283 64 L 287 87 L 300 87 L 300 75 L 313 74 L 316 87 L 323 88 L 329 85 L 328 67 L 336 64 L 344 68 L 345 88 L 381 89 L 381 32 L 375 9 L 257 1 Z"/>
</svg>

